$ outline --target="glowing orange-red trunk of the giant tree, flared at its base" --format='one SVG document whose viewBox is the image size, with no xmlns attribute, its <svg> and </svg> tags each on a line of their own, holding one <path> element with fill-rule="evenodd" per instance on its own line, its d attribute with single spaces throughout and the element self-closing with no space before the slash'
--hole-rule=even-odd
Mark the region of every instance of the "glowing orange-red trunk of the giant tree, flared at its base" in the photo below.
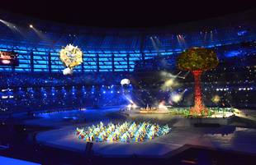
<svg viewBox="0 0 256 165">
<path fill-rule="evenodd" d="M 197 112 L 197 115 L 202 115 L 202 112 L 205 112 L 205 115 L 207 115 L 208 110 L 202 106 L 201 103 L 201 82 L 200 77 L 202 71 L 191 71 L 195 78 L 195 105 L 190 110 L 191 115 L 195 115 L 195 112 Z"/>
</svg>

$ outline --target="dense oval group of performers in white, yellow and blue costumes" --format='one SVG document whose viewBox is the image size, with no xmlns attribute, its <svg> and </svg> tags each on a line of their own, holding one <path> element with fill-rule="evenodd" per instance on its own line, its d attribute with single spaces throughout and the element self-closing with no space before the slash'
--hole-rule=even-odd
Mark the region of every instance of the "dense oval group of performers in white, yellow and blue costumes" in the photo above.
<svg viewBox="0 0 256 165">
<path fill-rule="evenodd" d="M 168 125 L 161 127 L 156 123 L 143 122 L 124 122 L 124 123 L 108 123 L 104 125 L 102 121 L 97 126 L 88 126 L 85 128 L 77 128 L 75 132 L 78 138 L 85 141 L 146 141 L 152 140 L 160 135 L 167 135 L 172 129 Z"/>
</svg>

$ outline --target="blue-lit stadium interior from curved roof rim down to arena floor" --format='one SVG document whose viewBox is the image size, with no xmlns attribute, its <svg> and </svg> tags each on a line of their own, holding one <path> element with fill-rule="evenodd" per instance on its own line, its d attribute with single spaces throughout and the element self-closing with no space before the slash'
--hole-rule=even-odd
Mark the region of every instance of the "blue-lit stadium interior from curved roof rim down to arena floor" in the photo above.
<svg viewBox="0 0 256 165">
<path fill-rule="evenodd" d="M 131 29 L 67 25 L 0 10 L 0 30 L 2 158 L 35 164 L 254 164 L 255 9 Z M 83 62 L 64 75 L 59 51 L 68 44 L 83 51 Z M 201 74 L 201 98 L 207 108 L 235 109 L 229 117 L 174 115 L 175 108 L 194 104 L 194 76 L 175 65 L 193 47 L 217 54 L 218 66 Z M 121 85 L 125 79 L 129 83 Z M 160 106 L 165 109 L 158 113 L 139 111 Z M 93 147 L 74 135 L 77 127 L 100 121 L 153 121 L 173 131 L 143 143 Z"/>
</svg>

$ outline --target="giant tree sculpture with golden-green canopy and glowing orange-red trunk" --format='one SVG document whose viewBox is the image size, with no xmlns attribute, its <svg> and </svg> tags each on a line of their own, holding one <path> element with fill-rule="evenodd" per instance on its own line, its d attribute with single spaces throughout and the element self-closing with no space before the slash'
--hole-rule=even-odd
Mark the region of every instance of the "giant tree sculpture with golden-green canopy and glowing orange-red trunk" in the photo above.
<svg viewBox="0 0 256 165">
<path fill-rule="evenodd" d="M 206 48 L 188 48 L 180 53 L 176 59 L 176 67 L 183 71 L 191 71 L 195 78 L 195 105 L 190 110 L 190 114 L 202 115 L 202 112 L 208 112 L 201 102 L 201 73 L 209 70 L 219 64 L 217 54 Z M 207 114 L 207 113 L 206 113 Z"/>
</svg>

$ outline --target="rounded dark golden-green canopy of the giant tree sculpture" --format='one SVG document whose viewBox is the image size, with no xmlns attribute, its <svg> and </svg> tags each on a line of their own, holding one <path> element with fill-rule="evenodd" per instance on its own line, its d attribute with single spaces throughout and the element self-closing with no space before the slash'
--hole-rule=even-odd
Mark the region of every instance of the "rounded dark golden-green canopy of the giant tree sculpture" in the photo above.
<svg viewBox="0 0 256 165">
<path fill-rule="evenodd" d="M 206 48 L 187 48 L 180 53 L 176 60 L 176 67 L 183 71 L 206 71 L 219 64 L 217 54 Z"/>
</svg>

